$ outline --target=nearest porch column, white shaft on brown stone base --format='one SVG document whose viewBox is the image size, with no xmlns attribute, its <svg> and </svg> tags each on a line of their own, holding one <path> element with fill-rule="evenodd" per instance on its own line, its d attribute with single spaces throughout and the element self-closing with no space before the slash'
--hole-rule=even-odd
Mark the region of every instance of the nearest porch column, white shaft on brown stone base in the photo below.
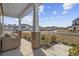
<svg viewBox="0 0 79 59">
<path fill-rule="evenodd" d="M 40 47 L 40 32 L 38 20 L 38 4 L 33 4 L 33 32 L 32 32 L 32 48 Z"/>
</svg>

